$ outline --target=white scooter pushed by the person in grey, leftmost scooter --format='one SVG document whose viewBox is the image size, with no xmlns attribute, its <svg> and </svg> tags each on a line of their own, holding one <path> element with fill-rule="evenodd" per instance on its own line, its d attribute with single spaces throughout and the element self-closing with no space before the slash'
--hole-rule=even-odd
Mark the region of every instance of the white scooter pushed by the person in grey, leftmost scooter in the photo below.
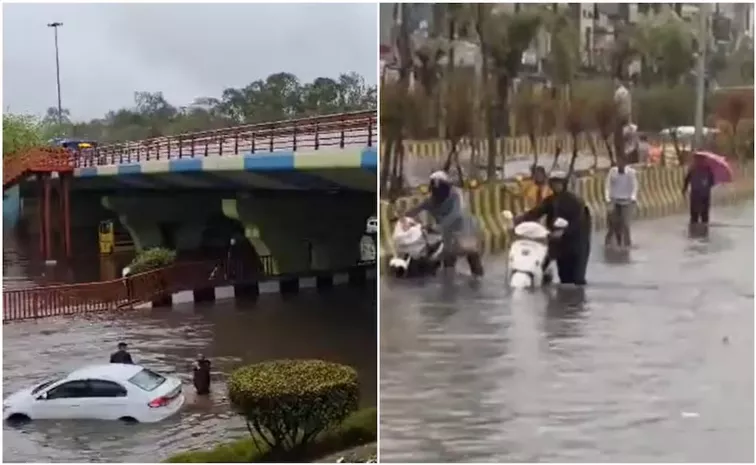
<svg viewBox="0 0 756 465">
<path fill-rule="evenodd" d="M 405 218 L 407 229 L 401 221 L 394 225 L 394 250 L 396 255 L 389 260 L 389 272 L 396 277 L 432 275 L 441 265 L 444 243 L 439 234 L 423 227 L 412 218 Z"/>
</svg>

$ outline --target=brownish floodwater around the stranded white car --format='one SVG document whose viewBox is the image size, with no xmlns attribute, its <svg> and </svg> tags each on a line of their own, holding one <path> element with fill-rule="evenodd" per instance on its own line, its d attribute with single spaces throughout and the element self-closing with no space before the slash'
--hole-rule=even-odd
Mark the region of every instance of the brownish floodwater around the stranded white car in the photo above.
<svg viewBox="0 0 756 465">
<path fill-rule="evenodd" d="M 21 274 L 20 267 L 12 271 Z M 230 411 L 224 380 L 235 367 L 264 360 L 319 358 L 350 365 L 360 376 L 362 404 L 376 405 L 376 302 L 376 290 L 368 286 L 336 288 L 325 294 L 302 292 L 285 299 L 264 295 L 254 303 L 222 301 L 6 324 L 6 395 L 58 373 L 105 362 L 116 344 L 125 341 L 136 363 L 183 379 L 188 400 L 180 414 L 158 424 L 6 424 L 3 459 L 155 462 L 177 452 L 245 437 L 244 422 Z M 209 400 L 192 395 L 190 365 L 198 353 L 213 363 Z"/>
</svg>

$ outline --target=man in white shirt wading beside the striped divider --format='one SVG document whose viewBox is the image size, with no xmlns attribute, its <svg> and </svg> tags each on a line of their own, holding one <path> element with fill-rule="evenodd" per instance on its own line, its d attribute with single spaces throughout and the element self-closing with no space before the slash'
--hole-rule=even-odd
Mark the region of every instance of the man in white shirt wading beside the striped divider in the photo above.
<svg viewBox="0 0 756 465">
<path fill-rule="evenodd" d="M 610 245 L 615 237 L 620 247 L 630 247 L 630 219 L 638 197 L 638 176 L 633 167 L 627 166 L 625 157 L 620 156 L 617 166 L 609 169 L 604 189 L 609 204 L 609 228 L 604 243 Z"/>
</svg>

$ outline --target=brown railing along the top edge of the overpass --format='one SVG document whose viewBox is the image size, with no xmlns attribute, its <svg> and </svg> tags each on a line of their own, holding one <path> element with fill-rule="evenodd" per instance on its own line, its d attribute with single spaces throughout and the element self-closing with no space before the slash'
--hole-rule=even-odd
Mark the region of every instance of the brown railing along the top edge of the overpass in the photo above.
<svg viewBox="0 0 756 465">
<path fill-rule="evenodd" d="M 77 167 L 378 143 L 375 110 L 249 124 L 83 150 Z"/>
</svg>

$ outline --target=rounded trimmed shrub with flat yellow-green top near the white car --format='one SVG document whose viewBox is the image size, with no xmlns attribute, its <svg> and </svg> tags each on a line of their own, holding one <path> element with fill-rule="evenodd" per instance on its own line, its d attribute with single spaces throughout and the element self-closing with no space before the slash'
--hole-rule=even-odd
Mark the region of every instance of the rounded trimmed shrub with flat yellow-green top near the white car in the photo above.
<svg viewBox="0 0 756 465">
<path fill-rule="evenodd" d="M 357 372 L 322 360 L 277 360 L 234 371 L 229 400 L 269 457 L 304 451 L 357 409 Z"/>
</svg>

